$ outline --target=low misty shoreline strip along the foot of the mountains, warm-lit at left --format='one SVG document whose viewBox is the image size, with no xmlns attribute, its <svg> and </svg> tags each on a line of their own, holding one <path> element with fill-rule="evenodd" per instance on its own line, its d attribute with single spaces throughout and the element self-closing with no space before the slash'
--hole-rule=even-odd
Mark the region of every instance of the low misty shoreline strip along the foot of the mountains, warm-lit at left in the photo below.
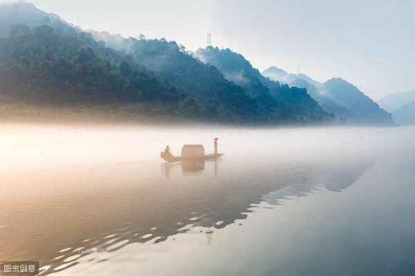
<svg viewBox="0 0 415 276">
<path fill-rule="evenodd" d="M 352 124 L 347 122 L 221 122 L 183 118 L 169 109 L 149 104 L 77 105 L 56 107 L 24 103 L 0 103 L 0 123 L 215 125 L 222 127 L 398 127 L 398 125 Z"/>
</svg>

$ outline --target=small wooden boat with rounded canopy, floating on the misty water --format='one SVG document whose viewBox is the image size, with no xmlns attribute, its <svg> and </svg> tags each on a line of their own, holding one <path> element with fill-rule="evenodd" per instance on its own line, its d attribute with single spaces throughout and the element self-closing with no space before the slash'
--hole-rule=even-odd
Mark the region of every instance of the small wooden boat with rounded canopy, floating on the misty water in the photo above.
<svg viewBox="0 0 415 276">
<path fill-rule="evenodd" d="M 192 160 L 214 160 L 218 159 L 223 154 L 205 154 L 205 147 L 203 145 L 184 145 L 181 156 L 174 156 L 165 152 L 160 153 L 160 157 L 168 163 L 192 161 Z"/>
</svg>

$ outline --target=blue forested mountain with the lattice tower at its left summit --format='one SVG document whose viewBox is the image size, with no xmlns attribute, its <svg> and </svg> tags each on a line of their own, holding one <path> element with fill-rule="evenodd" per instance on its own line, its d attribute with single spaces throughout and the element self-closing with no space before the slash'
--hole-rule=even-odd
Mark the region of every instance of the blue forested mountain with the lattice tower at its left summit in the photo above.
<svg viewBox="0 0 415 276">
<path fill-rule="evenodd" d="M 260 106 L 267 104 L 279 107 L 285 116 L 296 120 L 329 120 L 328 113 L 306 93 L 305 89 L 289 87 L 264 77 L 248 60 L 230 49 L 214 47 L 199 48 L 196 57 L 205 64 L 211 64 L 223 73 L 224 77 L 245 89 L 251 98 L 258 100 Z"/>
</svg>

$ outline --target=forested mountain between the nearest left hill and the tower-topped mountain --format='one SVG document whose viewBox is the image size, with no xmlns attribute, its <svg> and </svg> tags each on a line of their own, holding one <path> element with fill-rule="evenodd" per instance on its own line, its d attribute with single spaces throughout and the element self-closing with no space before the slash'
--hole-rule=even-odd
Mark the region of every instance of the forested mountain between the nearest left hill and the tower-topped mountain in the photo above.
<svg viewBox="0 0 415 276">
<path fill-rule="evenodd" d="M 199 116 L 216 116 L 240 122 L 273 122 L 270 111 L 260 110 L 240 86 L 225 80 L 214 66 L 206 66 L 176 42 L 165 39 L 123 38 L 91 32 L 95 39 L 128 53 L 131 59 L 153 71 L 192 98 Z"/>
</svg>

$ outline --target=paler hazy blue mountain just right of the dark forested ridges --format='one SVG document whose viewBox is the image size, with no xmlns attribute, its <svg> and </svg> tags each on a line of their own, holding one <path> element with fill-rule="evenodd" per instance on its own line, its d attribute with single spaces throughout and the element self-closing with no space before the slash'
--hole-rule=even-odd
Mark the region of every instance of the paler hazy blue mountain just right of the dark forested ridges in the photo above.
<svg viewBox="0 0 415 276">
<path fill-rule="evenodd" d="M 339 120 L 359 125 L 394 125 L 387 111 L 341 78 L 320 83 L 304 74 L 286 73 L 277 67 L 270 67 L 263 74 L 271 80 L 307 89 L 325 111 L 333 113 Z"/>
</svg>

